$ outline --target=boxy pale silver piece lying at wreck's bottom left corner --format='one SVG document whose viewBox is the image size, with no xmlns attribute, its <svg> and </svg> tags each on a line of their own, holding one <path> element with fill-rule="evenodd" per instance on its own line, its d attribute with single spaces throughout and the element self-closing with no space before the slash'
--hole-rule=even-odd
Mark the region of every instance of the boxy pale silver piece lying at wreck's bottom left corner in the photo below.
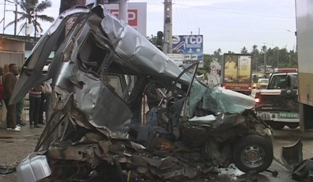
<svg viewBox="0 0 313 182">
<path fill-rule="evenodd" d="M 36 155 L 29 158 L 31 154 L 16 168 L 18 182 L 35 182 L 51 175 L 47 157 L 45 155 Z"/>
</svg>

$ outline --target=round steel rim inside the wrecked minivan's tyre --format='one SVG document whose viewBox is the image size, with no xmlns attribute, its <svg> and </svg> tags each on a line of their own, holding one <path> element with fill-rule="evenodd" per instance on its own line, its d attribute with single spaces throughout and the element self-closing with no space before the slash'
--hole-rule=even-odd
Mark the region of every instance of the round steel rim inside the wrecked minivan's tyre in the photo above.
<svg viewBox="0 0 313 182">
<path fill-rule="evenodd" d="M 241 153 L 241 161 L 250 168 L 256 168 L 263 164 L 265 152 L 257 145 L 246 147 Z"/>
</svg>

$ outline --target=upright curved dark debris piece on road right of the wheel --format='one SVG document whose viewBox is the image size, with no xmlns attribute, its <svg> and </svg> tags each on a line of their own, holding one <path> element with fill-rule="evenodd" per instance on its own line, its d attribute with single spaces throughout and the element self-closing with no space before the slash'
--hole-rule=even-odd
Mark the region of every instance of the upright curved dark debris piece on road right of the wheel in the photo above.
<svg viewBox="0 0 313 182">
<path fill-rule="evenodd" d="M 293 171 L 295 166 L 302 163 L 302 146 L 301 139 L 299 139 L 294 145 L 281 148 L 281 161 L 288 170 Z"/>
</svg>

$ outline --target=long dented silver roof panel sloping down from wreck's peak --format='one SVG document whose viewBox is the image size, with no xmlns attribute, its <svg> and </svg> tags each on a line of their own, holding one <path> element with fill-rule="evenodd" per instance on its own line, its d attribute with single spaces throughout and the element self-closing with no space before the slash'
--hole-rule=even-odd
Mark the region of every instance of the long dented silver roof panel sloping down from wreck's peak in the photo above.
<svg viewBox="0 0 313 182">
<path fill-rule="evenodd" d="M 114 45 L 115 51 L 128 64 L 157 80 L 166 83 L 176 80 L 182 70 L 167 55 L 124 21 L 107 10 L 104 10 L 104 14 L 102 29 Z M 184 85 L 189 85 L 190 81 L 187 75 L 181 78 L 181 83 Z"/>
</svg>

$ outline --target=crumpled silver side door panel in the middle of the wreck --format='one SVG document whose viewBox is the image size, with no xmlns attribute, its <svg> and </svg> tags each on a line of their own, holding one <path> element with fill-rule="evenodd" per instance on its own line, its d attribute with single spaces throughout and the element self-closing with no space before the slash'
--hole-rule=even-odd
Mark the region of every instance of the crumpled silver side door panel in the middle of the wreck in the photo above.
<svg viewBox="0 0 313 182">
<path fill-rule="evenodd" d="M 113 135 L 111 137 L 126 137 L 131 122 L 131 110 L 127 104 L 102 81 L 86 73 L 78 71 L 76 80 L 84 82 L 84 86 L 82 89 L 74 87 L 74 101 L 89 122 L 108 130 Z"/>
</svg>

